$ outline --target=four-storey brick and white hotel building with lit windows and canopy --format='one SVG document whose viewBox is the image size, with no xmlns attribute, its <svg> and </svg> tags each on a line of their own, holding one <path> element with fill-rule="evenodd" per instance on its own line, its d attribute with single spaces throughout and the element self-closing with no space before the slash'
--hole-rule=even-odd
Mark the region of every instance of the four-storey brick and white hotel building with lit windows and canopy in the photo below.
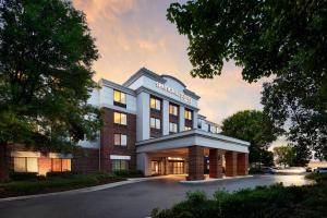
<svg viewBox="0 0 327 218">
<path fill-rule="evenodd" d="M 145 175 L 186 173 L 187 180 L 203 180 L 205 170 L 210 178 L 247 174 L 250 144 L 219 134 L 220 126 L 199 114 L 199 96 L 178 78 L 143 68 L 122 85 L 104 78 L 98 85 L 89 98 L 105 112 L 97 141 L 80 142 L 84 153 L 74 155 L 10 145 L 0 150 L 0 177 L 4 169 L 138 169 Z"/>
</svg>

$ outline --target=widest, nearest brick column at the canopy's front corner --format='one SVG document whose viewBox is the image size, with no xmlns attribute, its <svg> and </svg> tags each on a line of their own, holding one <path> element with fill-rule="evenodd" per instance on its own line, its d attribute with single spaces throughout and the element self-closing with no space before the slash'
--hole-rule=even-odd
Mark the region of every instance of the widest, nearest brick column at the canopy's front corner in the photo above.
<svg viewBox="0 0 327 218">
<path fill-rule="evenodd" d="M 189 175 L 186 180 L 204 180 L 204 148 L 201 146 L 189 147 Z"/>
</svg>

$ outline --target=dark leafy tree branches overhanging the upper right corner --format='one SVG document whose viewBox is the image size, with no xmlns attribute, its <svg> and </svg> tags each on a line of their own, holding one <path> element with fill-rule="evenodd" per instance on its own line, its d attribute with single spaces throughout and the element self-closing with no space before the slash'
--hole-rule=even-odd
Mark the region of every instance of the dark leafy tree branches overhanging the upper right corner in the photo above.
<svg viewBox="0 0 327 218">
<path fill-rule="evenodd" d="M 250 83 L 274 75 L 264 112 L 303 157 L 327 159 L 326 11 L 324 0 L 195 0 L 170 4 L 167 17 L 189 38 L 193 76 L 219 75 L 229 60 Z"/>
</svg>

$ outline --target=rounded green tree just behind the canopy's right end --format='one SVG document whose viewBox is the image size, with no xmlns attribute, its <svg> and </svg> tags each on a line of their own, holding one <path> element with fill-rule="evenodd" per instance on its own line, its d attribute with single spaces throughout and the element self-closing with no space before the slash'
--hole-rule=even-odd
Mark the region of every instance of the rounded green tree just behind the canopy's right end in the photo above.
<svg viewBox="0 0 327 218">
<path fill-rule="evenodd" d="M 222 134 L 251 143 L 249 161 L 271 164 L 271 155 L 266 149 L 277 138 L 275 129 L 262 111 L 244 110 L 222 121 Z"/>
</svg>

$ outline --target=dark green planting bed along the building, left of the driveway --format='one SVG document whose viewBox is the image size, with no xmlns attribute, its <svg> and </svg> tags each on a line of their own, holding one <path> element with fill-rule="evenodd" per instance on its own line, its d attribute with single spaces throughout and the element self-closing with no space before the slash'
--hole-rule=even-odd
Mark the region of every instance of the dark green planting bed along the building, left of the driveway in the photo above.
<svg viewBox="0 0 327 218">
<path fill-rule="evenodd" d="M 21 181 L 0 182 L 0 198 L 60 192 L 80 187 L 94 186 L 99 184 L 119 182 L 125 180 L 116 174 L 95 172 L 90 174 L 59 174 L 53 173 L 49 177 L 38 177 L 34 179 L 21 179 Z"/>
</svg>

